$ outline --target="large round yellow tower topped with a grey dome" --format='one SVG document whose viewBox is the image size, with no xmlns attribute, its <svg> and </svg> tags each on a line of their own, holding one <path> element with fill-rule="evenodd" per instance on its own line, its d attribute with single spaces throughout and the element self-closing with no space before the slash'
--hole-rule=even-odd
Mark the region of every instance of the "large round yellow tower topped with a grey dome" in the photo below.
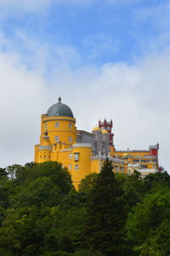
<svg viewBox="0 0 170 256">
<path fill-rule="evenodd" d="M 76 119 L 61 98 L 41 117 L 40 144 L 35 146 L 35 162 L 58 161 L 59 150 L 77 141 Z"/>
</svg>

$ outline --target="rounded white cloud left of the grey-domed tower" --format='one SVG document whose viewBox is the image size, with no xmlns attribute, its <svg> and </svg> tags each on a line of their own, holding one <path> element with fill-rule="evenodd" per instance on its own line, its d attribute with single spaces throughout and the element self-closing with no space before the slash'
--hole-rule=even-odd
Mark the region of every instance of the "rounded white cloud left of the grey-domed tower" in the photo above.
<svg viewBox="0 0 170 256">
<path fill-rule="evenodd" d="M 26 71 L 16 56 L 0 54 L 0 164 L 31 161 L 48 92 L 41 77 Z"/>
</svg>

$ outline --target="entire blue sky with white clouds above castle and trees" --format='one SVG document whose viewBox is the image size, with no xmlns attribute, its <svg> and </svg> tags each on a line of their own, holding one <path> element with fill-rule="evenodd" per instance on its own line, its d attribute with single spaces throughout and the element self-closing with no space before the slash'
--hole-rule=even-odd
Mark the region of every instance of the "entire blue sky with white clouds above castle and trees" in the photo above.
<svg viewBox="0 0 170 256">
<path fill-rule="evenodd" d="M 31 162 L 57 101 L 116 149 L 160 143 L 170 170 L 169 0 L 0 0 L 0 166 Z"/>
</svg>

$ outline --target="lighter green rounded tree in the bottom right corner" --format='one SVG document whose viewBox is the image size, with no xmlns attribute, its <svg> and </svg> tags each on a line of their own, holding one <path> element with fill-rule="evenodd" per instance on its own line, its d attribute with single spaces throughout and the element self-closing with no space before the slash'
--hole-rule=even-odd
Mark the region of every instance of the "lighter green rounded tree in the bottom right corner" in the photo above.
<svg viewBox="0 0 170 256">
<path fill-rule="evenodd" d="M 148 253 L 151 250 L 161 253 L 160 255 L 168 255 L 170 250 L 169 216 L 170 191 L 168 187 L 146 194 L 144 202 L 138 203 L 133 208 L 133 213 L 129 214 L 126 225 L 127 240 L 140 253 L 148 247 Z"/>
</svg>

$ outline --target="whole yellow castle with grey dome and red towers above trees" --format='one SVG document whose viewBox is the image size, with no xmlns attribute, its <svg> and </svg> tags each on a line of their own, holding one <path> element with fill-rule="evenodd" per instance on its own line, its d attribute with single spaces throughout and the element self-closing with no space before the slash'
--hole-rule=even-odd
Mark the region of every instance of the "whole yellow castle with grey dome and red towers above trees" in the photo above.
<svg viewBox="0 0 170 256">
<path fill-rule="evenodd" d="M 68 105 L 59 101 L 41 117 L 40 144 L 35 145 L 35 162 L 57 161 L 68 168 L 77 188 L 81 179 L 99 173 L 108 157 L 116 173 L 130 174 L 158 170 L 159 145 L 149 151 L 116 151 L 111 132 L 112 121 L 99 121 L 92 133 L 77 130 L 76 118 Z"/>
</svg>

